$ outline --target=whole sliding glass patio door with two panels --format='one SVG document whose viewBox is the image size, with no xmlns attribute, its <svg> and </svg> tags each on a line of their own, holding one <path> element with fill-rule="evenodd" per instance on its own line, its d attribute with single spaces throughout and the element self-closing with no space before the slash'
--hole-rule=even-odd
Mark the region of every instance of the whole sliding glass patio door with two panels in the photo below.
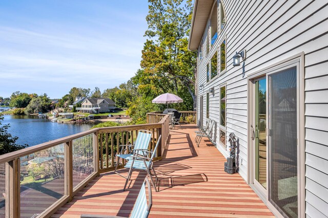
<svg viewBox="0 0 328 218">
<path fill-rule="evenodd" d="M 297 66 L 252 81 L 253 184 L 283 216 L 298 215 Z"/>
</svg>

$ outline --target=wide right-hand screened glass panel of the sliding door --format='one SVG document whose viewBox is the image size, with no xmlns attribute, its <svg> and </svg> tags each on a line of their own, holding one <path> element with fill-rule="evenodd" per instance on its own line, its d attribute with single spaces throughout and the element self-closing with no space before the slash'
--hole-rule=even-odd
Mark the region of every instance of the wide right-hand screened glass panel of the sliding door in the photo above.
<svg viewBox="0 0 328 218">
<path fill-rule="evenodd" d="M 269 200 L 297 217 L 297 68 L 269 78 Z"/>
</svg>

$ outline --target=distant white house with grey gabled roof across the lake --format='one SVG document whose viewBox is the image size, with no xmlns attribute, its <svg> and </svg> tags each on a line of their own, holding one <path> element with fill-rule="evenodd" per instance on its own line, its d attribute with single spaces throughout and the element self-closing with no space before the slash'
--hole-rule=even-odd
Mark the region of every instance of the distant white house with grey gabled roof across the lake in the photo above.
<svg viewBox="0 0 328 218">
<path fill-rule="evenodd" d="M 109 112 L 111 109 L 115 109 L 115 103 L 108 98 L 85 98 L 81 107 L 76 108 L 87 113 Z"/>
</svg>

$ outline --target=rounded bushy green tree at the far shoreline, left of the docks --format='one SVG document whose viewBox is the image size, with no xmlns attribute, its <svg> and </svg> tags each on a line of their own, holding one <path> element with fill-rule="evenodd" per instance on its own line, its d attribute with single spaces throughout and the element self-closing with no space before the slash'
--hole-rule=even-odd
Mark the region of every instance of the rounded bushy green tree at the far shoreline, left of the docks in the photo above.
<svg viewBox="0 0 328 218">
<path fill-rule="evenodd" d="M 51 100 L 45 93 L 31 100 L 29 105 L 25 108 L 25 114 L 48 112 L 50 110 L 50 105 Z"/>
</svg>

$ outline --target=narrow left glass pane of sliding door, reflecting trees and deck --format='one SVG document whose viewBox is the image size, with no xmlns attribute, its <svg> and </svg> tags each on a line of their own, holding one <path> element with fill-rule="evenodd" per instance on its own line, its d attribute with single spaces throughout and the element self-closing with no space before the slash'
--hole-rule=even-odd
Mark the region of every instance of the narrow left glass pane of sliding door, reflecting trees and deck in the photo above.
<svg viewBox="0 0 328 218">
<path fill-rule="evenodd" d="M 255 82 L 255 179 L 267 189 L 267 79 Z"/>
</svg>

